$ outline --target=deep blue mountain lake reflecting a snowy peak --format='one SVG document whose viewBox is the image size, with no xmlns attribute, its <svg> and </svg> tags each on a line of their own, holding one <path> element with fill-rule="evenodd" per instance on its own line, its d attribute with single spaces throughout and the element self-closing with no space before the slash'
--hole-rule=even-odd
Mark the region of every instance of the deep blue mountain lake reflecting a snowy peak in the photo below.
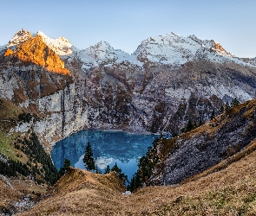
<svg viewBox="0 0 256 216">
<path fill-rule="evenodd" d="M 152 146 L 157 135 L 137 135 L 121 131 L 83 130 L 56 143 L 51 156 L 56 168 L 62 167 L 65 158 L 75 168 L 84 168 L 82 158 L 89 142 L 93 149 L 96 165 L 104 173 L 109 165 L 117 163 L 128 180 L 137 170 L 137 163 Z"/>
</svg>

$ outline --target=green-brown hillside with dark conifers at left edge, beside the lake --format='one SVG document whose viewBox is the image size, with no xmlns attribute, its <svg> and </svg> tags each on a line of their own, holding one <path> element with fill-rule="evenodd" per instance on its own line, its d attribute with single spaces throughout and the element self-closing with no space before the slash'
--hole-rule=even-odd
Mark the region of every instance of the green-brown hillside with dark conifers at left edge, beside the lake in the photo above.
<svg viewBox="0 0 256 216">
<path fill-rule="evenodd" d="M 0 214 L 26 209 L 27 206 L 15 203 L 26 196 L 34 202 L 45 194 L 46 184 L 56 180 L 56 168 L 35 133 L 30 131 L 21 136 L 12 131 L 16 125 L 32 121 L 35 117 L 32 115 L 27 109 L 0 98 Z"/>
</svg>

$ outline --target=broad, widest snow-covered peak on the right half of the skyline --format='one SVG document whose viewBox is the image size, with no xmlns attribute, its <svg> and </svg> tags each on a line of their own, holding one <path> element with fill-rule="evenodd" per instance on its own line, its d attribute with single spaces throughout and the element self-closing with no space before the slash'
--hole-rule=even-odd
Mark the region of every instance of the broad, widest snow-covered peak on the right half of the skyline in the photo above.
<svg viewBox="0 0 256 216">
<path fill-rule="evenodd" d="M 244 61 L 226 52 L 219 42 L 201 40 L 195 35 L 183 37 L 174 33 L 149 37 L 141 42 L 134 53 L 142 62 L 181 66 L 189 60 L 204 58 L 223 63 L 235 61 L 245 64 Z"/>
</svg>

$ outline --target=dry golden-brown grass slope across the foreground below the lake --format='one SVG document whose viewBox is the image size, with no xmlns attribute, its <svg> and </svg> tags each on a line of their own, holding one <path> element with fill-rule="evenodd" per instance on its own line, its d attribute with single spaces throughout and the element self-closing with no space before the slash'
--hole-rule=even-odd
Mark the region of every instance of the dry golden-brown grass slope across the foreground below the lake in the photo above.
<svg viewBox="0 0 256 216">
<path fill-rule="evenodd" d="M 253 151 L 219 172 L 130 196 L 121 195 L 113 174 L 72 168 L 49 198 L 19 215 L 256 215 L 255 159 Z"/>
</svg>

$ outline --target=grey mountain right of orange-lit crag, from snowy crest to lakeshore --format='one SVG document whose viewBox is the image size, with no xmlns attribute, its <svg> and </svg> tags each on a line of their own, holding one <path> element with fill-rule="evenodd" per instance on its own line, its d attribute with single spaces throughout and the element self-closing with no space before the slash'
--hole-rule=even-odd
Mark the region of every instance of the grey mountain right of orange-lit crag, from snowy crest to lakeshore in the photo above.
<svg viewBox="0 0 256 216">
<path fill-rule="evenodd" d="M 180 133 L 188 119 L 198 124 L 233 98 L 255 97 L 255 67 L 194 35 L 151 37 L 134 54 L 101 41 L 62 59 L 75 71 L 89 127 Z"/>
</svg>

